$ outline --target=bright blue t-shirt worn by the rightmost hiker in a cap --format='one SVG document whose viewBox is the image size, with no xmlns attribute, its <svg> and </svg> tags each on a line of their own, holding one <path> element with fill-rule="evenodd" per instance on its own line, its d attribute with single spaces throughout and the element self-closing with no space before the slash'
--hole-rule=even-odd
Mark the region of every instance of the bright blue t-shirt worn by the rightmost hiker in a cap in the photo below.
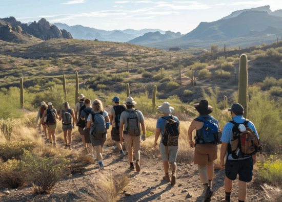
<svg viewBox="0 0 282 202">
<path fill-rule="evenodd" d="M 246 119 L 243 116 L 235 116 L 235 117 L 233 117 L 232 121 L 234 121 L 236 123 L 244 123 L 245 120 Z M 233 126 L 234 126 L 234 124 L 229 123 L 229 122 L 224 126 L 223 134 L 222 134 L 221 139 L 220 139 L 221 142 L 225 142 L 225 143 L 230 143 L 231 144 L 232 128 L 233 128 Z M 252 129 L 252 131 L 255 132 L 257 139 L 259 139 L 254 124 L 251 121 L 249 121 L 248 126 Z M 231 154 L 229 154 L 229 156 L 228 156 L 228 152 L 226 153 L 226 157 L 228 157 L 228 160 L 241 160 L 241 159 L 244 159 L 244 158 L 233 159 Z M 251 156 L 248 156 L 247 158 L 250 158 L 250 157 Z M 247 158 L 245 158 L 245 159 L 247 159 Z"/>
</svg>

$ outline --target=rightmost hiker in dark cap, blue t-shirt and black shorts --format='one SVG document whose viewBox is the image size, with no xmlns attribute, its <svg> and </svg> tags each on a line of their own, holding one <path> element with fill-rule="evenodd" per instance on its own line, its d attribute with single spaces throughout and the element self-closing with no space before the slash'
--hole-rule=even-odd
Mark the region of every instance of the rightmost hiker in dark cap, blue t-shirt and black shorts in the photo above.
<svg viewBox="0 0 282 202">
<path fill-rule="evenodd" d="M 256 163 L 255 152 L 260 151 L 261 147 L 259 146 L 259 138 L 254 124 L 243 117 L 243 106 L 235 103 L 228 111 L 231 111 L 232 121 L 224 126 L 221 136 L 220 168 L 225 168 L 226 177 L 224 183 L 225 199 L 220 201 L 231 201 L 232 182 L 239 174 L 238 200 L 243 202 L 246 199 L 247 183 L 252 181 L 253 165 Z M 253 137 L 248 138 L 248 136 Z M 256 144 L 254 145 L 254 150 L 248 150 L 251 153 L 244 153 L 245 149 L 241 143 L 244 143 L 247 148 L 248 139 L 248 143 L 251 142 L 250 145 L 252 143 Z M 224 162 L 225 156 L 226 163 Z"/>
</svg>

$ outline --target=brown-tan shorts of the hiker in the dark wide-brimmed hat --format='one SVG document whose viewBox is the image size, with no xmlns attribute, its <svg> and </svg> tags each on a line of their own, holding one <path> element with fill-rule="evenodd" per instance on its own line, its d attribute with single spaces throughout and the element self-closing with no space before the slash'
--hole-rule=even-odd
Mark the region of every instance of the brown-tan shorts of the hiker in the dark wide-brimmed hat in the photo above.
<svg viewBox="0 0 282 202">
<path fill-rule="evenodd" d="M 200 145 L 195 147 L 194 164 L 207 165 L 217 159 L 217 145 Z"/>
</svg>

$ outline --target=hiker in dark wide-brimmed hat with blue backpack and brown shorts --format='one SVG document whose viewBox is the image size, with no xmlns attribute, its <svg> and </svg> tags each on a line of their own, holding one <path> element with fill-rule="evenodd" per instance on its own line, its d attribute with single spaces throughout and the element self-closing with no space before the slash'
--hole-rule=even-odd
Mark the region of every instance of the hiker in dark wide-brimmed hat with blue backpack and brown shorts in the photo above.
<svg viewBox="0 0 282 202">
<path fill-rule="evenodd" d="M 214 140 L 213 133 L 204 132 L 204 124 L 209 122 L 215 127 L 217 132 L 220 130 L 219 123 L 209 114 L 212 113 L 213 107 L 209 105 L 207 100 L 201 100 L 200 103 L 194 104 L 199 113 L 199 117 L 194 119 L 188 129 L 188 137 L 190 146 L 195 147 L 194 164 L 198 165 L 200 179 L 204 186 L 205 200 L 210 201 L 213 191 L 211 190 L 214 161 L 217 159 L 217 144 Z M 192 140 L 192 132 L 196 129 L 195 143 Z M 205 130 L 206 131 L 206 130 Z M 207 130 L 208 132 L 208 130 Z"/>
</svg>

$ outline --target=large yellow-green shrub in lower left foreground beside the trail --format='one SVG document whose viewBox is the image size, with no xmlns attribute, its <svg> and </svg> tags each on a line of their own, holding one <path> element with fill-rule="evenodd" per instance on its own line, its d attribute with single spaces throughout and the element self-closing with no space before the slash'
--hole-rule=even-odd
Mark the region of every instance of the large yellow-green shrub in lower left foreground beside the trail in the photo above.
<svg viewBox="0 0 282 202">
<path fill-rule="evenodd" d="M 58 159 L 43 158 L 25 151 L 23 155 L 24 170 L 27 181 L 34 183 L 33 192 L 50 194 L 53 187 L 68 175 L 69 159 L 63 156 Z"/>
</svg>

